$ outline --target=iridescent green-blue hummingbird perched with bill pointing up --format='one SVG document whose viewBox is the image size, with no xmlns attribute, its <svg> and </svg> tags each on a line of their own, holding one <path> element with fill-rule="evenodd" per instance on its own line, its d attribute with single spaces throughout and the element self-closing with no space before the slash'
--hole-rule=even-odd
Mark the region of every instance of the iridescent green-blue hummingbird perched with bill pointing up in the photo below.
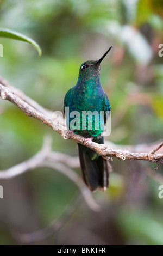
<svg viewBox="0 0 163 256">
<path fill-rule="evenodd" d="M 112 46 L 111 46 L 112 47 Z M 104 124 L 110 114 L 110 103 L 108 96 L 104 92 L 100 82 L 100 68 L 101 62 L 111 50 L 111 47 L 99 60 L 87 60 L 82 63 L 79 69 L 79 76 L 76 86 L 70 88 L 64 99 L 64 113 L 68 107 L 67 128 L 78 135 L 82 135 L 85 139 L 92 140 L 98 144 L 104 144 Z M 92 127 L 88 127 L 89 117 L 86 118 L 86 126 L 82 125 L 82 119 L 73 122 L 70 113 L 74 112 L 82 115 L 83 113 L 95 112 L 100 114 L 103 112 L 103 118 L 95 119 L 93 115 Z M 66 114 L 65 114 L 66 115 Z M 83 118 L 83 116 L 82 116 Z M 103 124 L 101 125 L 100 124 Z M 100 124 L 99 129 L 95 126 Z M 78 125 L 78 129 L 77 129 Z M 80 167 L 82 169 L 83 181 L 91 191 L 99 188 L 105 191 L 109 187 L 109 170 L 111 168 L 108 160 L 99 156 L 95 151 L 78 143 L 78 153 L 80 160 Z"/>
</svg>

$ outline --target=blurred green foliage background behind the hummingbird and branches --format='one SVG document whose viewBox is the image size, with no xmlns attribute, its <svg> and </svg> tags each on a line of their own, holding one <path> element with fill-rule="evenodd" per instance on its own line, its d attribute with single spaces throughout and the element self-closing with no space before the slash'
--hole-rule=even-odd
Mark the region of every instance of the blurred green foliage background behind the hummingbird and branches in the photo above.
<svg viewBox="0 0 163 256">
<path fill-rule="evenodd" d="M 111 104 L 107 139 L 122 145 L 158 141 L 163 137 L 162 17 L 159 0 L 1 1 L 1 27 L 34 39 L 42 57 L 31 45 L 1 38 L 0 75 L 43 107 L 62 111 L 80 64 L 99 59 L 112 45 L 101 65 L 101 83 Z M 0 113 L 1 170 L 32 157 L 46 134 L 53 137 L 54 151 L 77 156 L 76 143 L 10 102 L 0 99 Z M 149 175 L 156 164 L 117 159 L 111 164 L 109 190 L 93 193 L 101 211 L 90 210 L 82 198 L 59 231 L 27 244 L 163 245 L 160 183 Z M 160 166 L 157 172 L 162 170 Z M 20 234 L 47 227 L 55 218 L 62 222 L 65 206 L 79 193 L 66 176 L 47 168 L 0 180 L 0 185 L 1 245 L 26 244 Z"/>
</svg>

